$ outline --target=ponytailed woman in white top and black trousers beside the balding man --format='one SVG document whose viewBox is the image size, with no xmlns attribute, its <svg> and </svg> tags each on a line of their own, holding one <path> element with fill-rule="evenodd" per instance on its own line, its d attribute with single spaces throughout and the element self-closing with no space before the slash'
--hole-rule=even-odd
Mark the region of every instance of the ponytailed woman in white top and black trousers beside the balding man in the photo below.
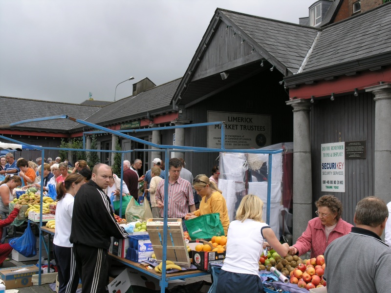
<svg viewBox="0 0 391 293">
<path fill-rule="evenodd" d="M 73 256 L 72 243 L 69 242 L 72 226 L 73 201 L 84 177 L 78 173 L 66 176 L 57 185 L 56 231 L 53 239 L 54 259 L 58 266 L 59 293 L 74 293 L 79 284 L 79 274 Z"/>
</svg>

